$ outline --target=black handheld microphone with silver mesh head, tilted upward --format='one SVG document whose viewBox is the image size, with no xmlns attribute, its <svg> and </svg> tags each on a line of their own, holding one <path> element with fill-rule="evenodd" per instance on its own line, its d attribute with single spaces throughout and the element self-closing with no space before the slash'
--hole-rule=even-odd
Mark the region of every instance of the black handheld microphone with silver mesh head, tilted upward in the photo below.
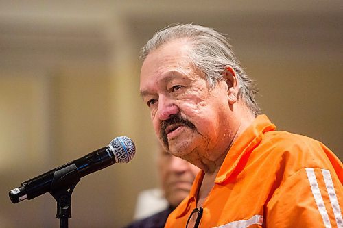
<svg viewBox="0 0 343 228">
<path fill-rule="evenodd" d="M 43 173 L 38 177 L 21 183 L 21 186 L 18 188 L 10 190 L 10 199 L 12 203 L 18 203 L 25 199 L 34 199 L 41 194 L 51 192 L 56 173 L 59 173 L 64 177 L 72 173 L 70 175 L 72 179 L 80 180 L 81 177 L 115 163 L 130 162 L 134 157 L 134 153 L 136 153 L 136 147 L 130 138 L 126 136 L 117 137 L 113 139 L 107 147 L 88 153 L 88 155 L 80 157 L 78 160 L 54 168 L 47 173 Z M 58 183 L 58 187 L 67 186 L 72 181 L 75 182 L 75 180 L 69 179 L 62 179 L 62 181 Z"/>
</svg>

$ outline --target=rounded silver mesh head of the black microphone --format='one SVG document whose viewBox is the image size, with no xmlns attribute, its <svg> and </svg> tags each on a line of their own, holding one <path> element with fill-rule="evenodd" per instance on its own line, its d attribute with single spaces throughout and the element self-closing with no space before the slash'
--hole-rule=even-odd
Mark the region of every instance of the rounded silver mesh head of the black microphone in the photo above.
<svg viewBox="0 0 343 228">
<path fill-rule="evenodd" d="M 116 163 L 128 163 L 134 157 L 134 153 L 136 153 L 136 146 L 134 146 L 132 140 L 126 136 L 115 138 L 108 146 L 113 147 Z"/>
</svg>

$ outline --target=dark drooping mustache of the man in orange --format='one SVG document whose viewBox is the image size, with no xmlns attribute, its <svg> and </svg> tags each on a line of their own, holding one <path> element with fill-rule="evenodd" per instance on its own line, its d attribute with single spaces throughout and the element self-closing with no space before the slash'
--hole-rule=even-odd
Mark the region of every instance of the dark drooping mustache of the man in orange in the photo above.
<svg viewBox="0 0 343 228">
<path fill-rule="evenodd" d="M 165 129 L 167 129 L 169 125 L 173 125 L 173 124 L 186 125 L 190 127 L 191 129 L 196 129 L 196 126 L 193 125 L 191 121 L 187 120 L 187 118 L 182 117 L 180 114 L 175 114 L 173 116 L 170 116 L 167 120 L 161 121 L 160 138 L 162 139 L 163 144 L 165 144 L 165 147 L 168 149 L 168 151 L 169 151 L 169 143 L 168 143 L 168 137 L 167 137 L 167 133 L 165 132 Z"/>
</svg>

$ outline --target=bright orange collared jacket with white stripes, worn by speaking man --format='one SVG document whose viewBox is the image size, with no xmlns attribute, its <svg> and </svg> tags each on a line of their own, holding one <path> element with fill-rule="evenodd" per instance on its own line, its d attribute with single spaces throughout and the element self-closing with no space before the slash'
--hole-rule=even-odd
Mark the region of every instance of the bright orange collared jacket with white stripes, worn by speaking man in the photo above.
<svg viewBox="0 0 343 228">
<path fill-rule="evenodd" d="M 165 227 L 185 227 L 203 177 Z M 342 162 L 324 144 L 257 116 L 228 151 L 199 227 L 343 227 L 342 179 Z"/>
</svg>

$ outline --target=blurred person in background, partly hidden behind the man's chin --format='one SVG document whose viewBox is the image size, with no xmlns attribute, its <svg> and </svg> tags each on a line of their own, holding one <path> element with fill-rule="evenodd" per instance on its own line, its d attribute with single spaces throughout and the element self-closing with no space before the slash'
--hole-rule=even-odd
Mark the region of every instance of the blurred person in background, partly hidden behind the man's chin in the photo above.
<svg viewBox="0 0 343 228">
<path fill-rule="evenodd" d="M 139 197 L 135 213 L 138 216 L 154 210 L 154 207 L 161 208 L 161 201 L 162 211 L 136 220 L 126 228 L 164 227 L 170 212 L 189 194 L 194 178 L 200 171 L 197 166 L 167 153 L 161 144 L 158 145 L 156 163 L 161 193 L 157 189 L 144 191 Z"/>
</svg>

